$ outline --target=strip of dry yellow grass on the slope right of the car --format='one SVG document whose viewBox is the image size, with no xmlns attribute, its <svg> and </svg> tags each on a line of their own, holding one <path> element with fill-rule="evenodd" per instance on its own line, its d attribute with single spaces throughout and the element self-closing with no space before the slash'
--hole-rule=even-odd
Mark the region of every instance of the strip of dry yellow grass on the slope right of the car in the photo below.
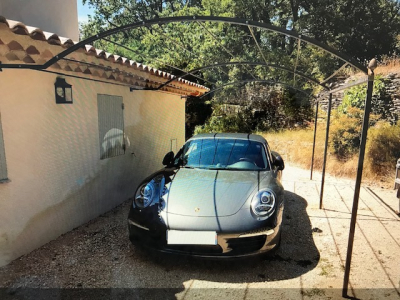
<svg viewBox="0 0 400 300">
<path fill-rule="evenodd" d="M 325 148 L 324 121 L 318 122 L 317 138 L 315 144 L 314 169 L 322 170 Z M 282 155 L 283 159 L 292 165 L 310 169 L 313 147 L 314 128 L 284 130 L 279 132 L 260 133 L 263 135 L 271 149 Z M 343 161 L 338 160 L 328 147 L 326 171 L 334 176 L 355 179 L 358 165 L 358 154 Z M 368 157 L 366 157 L 368 159 Z M 368 184 L 392 187 L 393 178 L 385 174 L 375 174 L 368 164 L 364 164 L 363 181 Z"/>
</svg>

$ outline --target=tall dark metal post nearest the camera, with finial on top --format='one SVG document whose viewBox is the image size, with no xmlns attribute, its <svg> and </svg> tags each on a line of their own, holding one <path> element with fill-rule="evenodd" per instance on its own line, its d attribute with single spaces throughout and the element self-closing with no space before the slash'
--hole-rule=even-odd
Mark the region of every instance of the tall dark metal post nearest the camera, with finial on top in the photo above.
<svg viewBox="0 0 400 300">
<path fill-rule="evenodd" d="M 357 221 L 358 200 L 360 197 L 361 178 L 362 178 L 362 171 L 363 171 L 363 167 L 364 167 L 365 144 L 367 142 L 367 133 L 368 133 L 368 126 L 369 126 L 369 113 L 371 111 L 371 99 L 372 99 L 373 88 L 374 88 L 374 73 L 373 73 L 373 69 L 371 68 L 371 73 L 368 75 L 368 89 L 367 89 L 367 98 L 365 99 L 364 120 L 363 120 L 361 143 L 360 143 L 360 155 L 358 156 L 357 177 L 356 177 L 356 185 L 354 188 L 353 209 L 351 212 L 349 242 L 347 245 L 346 266 L 345 266 L 345 270 L 344 270 L 344 282 L 343 282 L 343 291 L 342 291 L 343 297 L 347 297 L 347 291 L 348 291 L 348 285 L 349 285 L 351 256 L 353 253 L 354 232 L 355 232 L 356 221 Z"/>
</svg>

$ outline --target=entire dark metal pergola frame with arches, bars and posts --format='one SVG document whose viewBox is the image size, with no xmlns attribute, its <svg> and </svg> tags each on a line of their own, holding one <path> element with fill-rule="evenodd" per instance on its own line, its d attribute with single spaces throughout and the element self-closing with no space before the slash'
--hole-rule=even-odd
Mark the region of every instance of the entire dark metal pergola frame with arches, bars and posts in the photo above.
<svg viewBox="0 0 400 300">
<path fill-rule="evenodd" d="M 209 91 L 208 93 L 204 94 L 202 97 L 204 97 L 207 94 L 210 94 L 214 91 L 221 90 L 225 86 L 229 85 L 242 85 L 246 84 L 249 82 L 259 82 L 259 83 L 264 83 L 264 84 L 269 84 L 269 85 L 282 85 L 288 88 L 291 88 L 293 90 L 298 90 L 301 91 L 300 88 L 296 87 L 296 77 L 301 77 L 305 79 L 307 82 L 310 84 L 315 84 L 319 87 L 322 87 L 323 89 L 327 90 L 329 92 L 329 104 L 328 104 L 328 117 L 327 117 L 327 128 L 326 128 L 326 138 L 325 138 L 325 151 L 324 151 L 324 163 L 323 163 L 323 171 L 322 171 L 322 181 L 321 181 L 321 194 L 320 194 L 320 208 L 323 207 L 323 190 L 324 190 L 324 182 L 325 182 L 325 166 L 326 166 L 326 157 L 327 157 L 327 146 L 328 146 L 328 136 L 329 136 L 329 122 L 330 122 L 330 114 L 331 114 L 331 102 L 332 102 L 332 93 L 335 91 L 338 91 L 339 89 L 332 90 L 330 87 L 327 85 L 327 82 L 331 80 L 333 77 L 335 77 L 341 70 L 346 68 L 347 66 L 352 66 L 356 68 L 357 70 L 363 72 L 364 74 L 367 74 L 367 80 L 362 79 L 358 82 L 349 84 L 345 87 L 341 87 L 340 89 L 345 89 L 350 86 L 356 85 L 356 84 L 361 84 L 365 83 L 368 81 L 368 87 L 367 87 L 367 97 L 365 100 L 365 110 L 364 110 L 364 119 L 363 119 L 363 127 L 362 127 L 362 135 L 361 135 L 361 144 L 360 144 L 360 154 L 359 154 L 359 160 L 358 160 L 358 170 L 357 170 L 357 177 L 356 177 L 356 184 L 355 184 L 355 192 L 354 192 L 354 199 L 353 199 L 353 210 L 352 210 L 352 217 L 351 217 L 351 223 L 350 223 L 350 233 L 349 233 L 349 241 L 348 241 L 348 250 L 347 250 L 347 259 L 346 259 L 346 266 L 345 266 L 345 275 L 344 275 L 344 283 L 343 283 L 343 296 L 347 296 L 348 292 L 348 283 L 349 283 L 349 274 L 350 274 L 350 266 L 351 266 L 351 257 L 352 257 L 352 250 L 353 250 L 353 241 L 354 241 L 354 232 L 355 232 L 355 224 L 356 224 L 356 218 L 357 218 L 357 210 L 358 210 L 358 200 L 359 200 L 359 193 L 360 193 L 360 185 L 361 185 L 361 177 L 362 177 L 362 170 L 363 170 L 363 160 L 364 160 L 364 155 L 365 155 L 365 144 L 366 144 L 366 138 L 367 138 L 367 130 L 368 130 L 368 123 L 369 123 L 369 113 L 371 109 L 371 98 L 372 98 L 372 90 L 373 90 L 373 81 L 374 81 L 374 73 L 373 70 L 376 66 L 371 64 L 369 66 L 369 69 L 365 67 L 364 65 L 360 64 L 358 61 L 352 59 L 351 57 L 340 53 L 339 51 L 324 45 L 312 38 L 303 36 L 298 34 L 297 32 L 293 30 L 287 30 L 283 28 L 279 28 L 270 24 L 265 24 L 261 22 L 255 22 L 251 20 L 243 20 L 243 19 L 237 19 L 237 18 L 227 18 L 227 17 L 214 17 L 214 16 L 181 16 L 181 17 L 167 17 L 167 18 L 159 18 L 159 19 L 153 19 L 153 20 L 145 20 L 141 22 L 135 22 L 132 24 L 127 24 L 123 25 L 120 27 L 112 28 L 110 30 L 101 32 L 97 35 L 94 35 L 92 37 L 89 37 L 79 43 L 71 45 L 69 48 L 65 49 L 64 51 L 60 52 L 59 54 L 55 55 L 54 57 L 50 58 L 48 61 L 46 61 L 43 64 L 2 64 L 0 62 L 0 71 L 5 68 L 9 69 L 32 69 L 32 70 L 39 70 L 39 71 L 45 71 L 45 72 L 51 72 L 47 70 L 49 67 L 52 65 L 56 64 L 60 60 L 65 60 L 65 61 L 71 61 L 74 63 L 79 63 L 83 65 L 90 66 L 92 68 L 105 68 L 108 71 L 113 71 L 113 72 L 121 72 L 118 69 L 110 69 L 110 67 L 105 67 L 100 64 L 94 64 L 94 63 L 88 63 L 85 61 L 79 61 L 75 60 L 73 58 L 68 58 L 68 55 L 72 54 L 73 52 L 84 48 L 86 45 L 91 44 L 97 40 L 104 40 L 108 43 L 111 43 L 117 47 L 123 48 L 127 51 L 130 51 L 132 53 L 135 53 L 136 55 L 142 57 L 143 59 L 147 60 L 143 54 L 138 53 L 138 51 L 135 51 L 134 49 L 131 49 L 125 45 L 122 45 L 121 43 L 118 43 L 116 41 L 113 41 L 109 39 L 108 37 L 121 33 L 121 32 L 127 32 L 129 30 L 133 29 L 144 29 L 144 28 L 149 28 L 151 26 L 158 26 L 157 30 L 161 32 L 161 35 L 165 37 L 166 39 L 170 40 L 173 44 L 177 45 L 179 48 L 183 49 L 184 51 L 190 53 L 191 56 L 196 56 L 196 53 L 193 51 L 187 49 L 185 45 L 182 43 L 179 43 L 175 41 L 173 38 L 169 37 L 161 28 L 161 25 L 165 24 L 170 24 L 170 23 L 196 23 L 199 27 L 201 27 L 204 31 L 207 32 L 208 36 L 210 36 L 214 41 L 216 47 L 222 48 L 222 50 L 228 54 L 228 56 L 231 59 L 234 59 L 235 55 L 226 47 L 224 44 L 221 42 L 220 38 L 212 33 L 207 26 L 205 26 L 205 22 L 217 22 L 217 23 L 225 23 L 225 24 L 231 24 L 231 25 L 236 25 L 236 26 L 242 26 L 244 28 L 247 28 L 250 32 L 251 37 L 253 38 L 255 45 L 257 47 L 258 53 L 260 54 L 260 59 L 263 62 L 257 61 L 257 62 L 251 62 L 251 61 L 219 61 L 214 64 L 205 64 L 202 67 L 195 68 L 192 70 L 183 70 L 179 67 L 173 66 L 171 64 L 167 64 L 157 58 L 149 58 L 152 61 L 157 61 L 159 63 L 162 63 L 165 66 L 170 67 L 171 69 L 177 70 L 181 72 L 182 74 L 177 76 L 177 77 L 172 77 L 169 80 L 166 80 L 164 83 L 160 84 L 157 87 L 150 86 L 150 87 L 145 87 L 142 89 L 147 89 L 147 90 L 160 90 L 164 87 L 167 87 L 171 85 L 174 81 L 180 80 L 184 77 L 187 76 L 192 76 L 193 78 L 199 79 L 202 82 L 208 83 L 212 85 L 214 88 Z M 271 63 L 268 62 L 266 59 L 266 56 L 264 55 L 264 51 L 262 49 L 262 45 L 257 41 L 257 38 L 254 34 L 254 29 L 256 30 L 264 30 L 268 32 L 273 32 L 279 35 L 283 35 L 287 38 L 294 38 L 297 40 L 297 49 L 296 49 L 296 59 L 294 62 L 294 65 L 292 68 L 289 68 L 287 66 L 282 66 L 279 64 Z M 323 51 L 331 54 L 333 57 L 343 61 L 343 64 L 339 69 L 337 69 L 332 75 L 328 76 L 327 78 L 323 79 L 322 81 L 319 81 L 310 75 L 304 74 L 300 71 L 298 71 L 299 68 L 299 57 L 301 53 L 301 44 L 306 43 L 307 45 L 315 46 Z M 207 78 L 204 78 L 201 76 L 201 71 L 204 70 L 209 70 L 209 69 L 219 69 L 222 73 L 230 77 L 229 74 L 223 70 L 223 68 L 230 67 L 230 66 L 243 66 L 248 74 L 252 77 L 252 79 L 246 79 L 246 80 L 239 80 L 239 81 L 234 81 L 234 82 L 228 82 L 222 85 L 217 85 L 217 82 L 208 80 Z M 274 68 L 278 70 L 285 71 L 287 73 L 290 73 L 293 75 L 293 84 L 290 83 L 285 83 L 281 82 L 279 80 L 266 80 L 262 78 L 257 78 L 254 75 L 254 71 L 251 69 L 251 67 L 265 67 L 267 68 Z M 369 72 L 368 72 L 369 71 Z M 53 72 L 54 73 L 54 72 Z M 58 73 L 57 73 L 58 74 Z M 65 74 L 64 74 L 65 75 Z M 66 75 L 67 76 L 67 75 Z M 68 75 L 71 76 L 71 75 Z M 93 80 L 93 79 L 89 79 Z M 125 85 L 125 84 L 124 84 Z M 126 86 L 129 86 L 126 84 Z M 131 90 L 137 89 L 137 87 L 134 86 L 129 86 Z M 307 96 L 312 97 L 312 95 L 307 94 L 304 91 L 301 91 L 302 93 L 305 93 Z M 314 149 L 315 149 L 315 133 L 316 133 L 316 127 L 317 127 L 317 118 L 318 118 L 318 102 L 316 104 L 316 115 L 315 115 L 315 131 L 314 131 L 314 143 L 313 143 L 313 154 L 312 154 L 312 164 L 311 164 L 311 178 L 312 178 L 312 171 L 313 171 L 313 160 L 314 160 Z"/>
</svg>

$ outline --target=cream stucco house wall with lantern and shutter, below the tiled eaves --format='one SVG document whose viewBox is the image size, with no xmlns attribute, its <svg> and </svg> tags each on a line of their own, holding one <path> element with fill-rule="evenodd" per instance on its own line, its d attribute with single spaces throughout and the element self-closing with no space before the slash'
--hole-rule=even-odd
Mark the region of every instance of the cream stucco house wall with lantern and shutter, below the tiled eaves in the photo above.
<svg viewBox="0 0 400 300">
<path fill-rule="evenodd" d="M 66 77 L 74 103 L 62 105 L 56 75 L 3 70 L 0 77 L 10 179 L 0 184 L 0 266 L 132 197 L 162 167 L 171 139 L 178 147 L 185 141 L 178 95 Z M 100 160 L 97 94 L 123 97 L 125 155 Z"/>
</svg>

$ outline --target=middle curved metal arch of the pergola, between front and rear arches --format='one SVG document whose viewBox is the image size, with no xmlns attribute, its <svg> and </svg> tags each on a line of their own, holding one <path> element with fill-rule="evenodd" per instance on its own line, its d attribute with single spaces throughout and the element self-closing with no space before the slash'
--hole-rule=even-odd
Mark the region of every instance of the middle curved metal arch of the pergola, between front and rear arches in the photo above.
<svg viewBox="0 0 400 300">
<path fill-rule="evenodd" d="M 157 87 L 156 90 L 159 90 L 159 89 L 165 87 L 166 85 L 170 84 L 171 82 L 173 82 L 175 80 L 179 80 L 180 78 L 183 78 L 183 77 L 188 76 L 188 75 L 193 75 L 193 73 L 196 73 L 196 72 L 199 72 L 199 71 L 218 68 L 218 67 L 234 66 L 234 65 L 265 66 L 265 67 L 271 67 L 271 68 L 274 68 L 274 69 L 284 70 L 284 71 L 296 74 L 296 75 L 298 75 L 300 77 L 303 77 L 303 78 L 307 79 L 308 81 L 313 82 L 315 84 L 318 84 L 319 86 L 322 86 L 324 89 L 329 90 L 329 87 L 327 87 L 326 85 L 321 84 L 318 80 L 316 80 L 316 79 L 314 79 L 312 77 L 309 77 L 309 76 L 307 76 L 307 75 L 305 75 L 305 74 L 303 74 L 301 72 L 297 72 L 297 71 L 294 71 L 292 69 L 279 66 L 277 64 L 268 64 L 268 63 L 263 63 L 263 62 L 251 62 L 251 61 L 217 63 L 217 64 L 213 64 L 213 65 L 208 65 L 208 66 L 203 66 L 203 67 L 200 67 L 200 68 L 192 69 L 192 70 L 186 72 L 186 74 L 183 74 L 181 76 L 177 76 L 175 78 L 172 78 L 172 79 L 164 82 L 159 87 Z"/>
</svg>

